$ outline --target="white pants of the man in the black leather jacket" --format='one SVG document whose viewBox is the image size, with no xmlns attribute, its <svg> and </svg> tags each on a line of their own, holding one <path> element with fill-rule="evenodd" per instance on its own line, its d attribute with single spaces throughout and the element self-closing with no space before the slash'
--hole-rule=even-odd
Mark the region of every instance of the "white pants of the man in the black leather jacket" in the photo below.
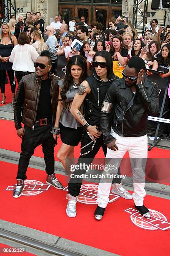
<svg viewBox="0 0 170 256">
<path fill-rule="evenodd" d="M 106 163 L 117 164 L 117 169 L 126 151 L 129 152 L 130 163 L 133 174 L 133 200 L 136 206 L 143 205 L 143 198 L 145 192 L 145 165 L 148 157 L 148 137 L 147 135 L 141 137 L 120 137 L 113 131 L 111 134 L 116 138 L 116 145 L 119 150 L 113 151 L 107 148 Z M 109 172 L 116 174 L 116 171 Z M 108 172 L 103 172 L 106 174 Z M 107 176 L 106 176 L 107 177 Z M 100 207 L 105 208 L 109 201 L 110 187 L 112 179 L 101 179 L 97 192 L 97 203 Z"/>
</svg>

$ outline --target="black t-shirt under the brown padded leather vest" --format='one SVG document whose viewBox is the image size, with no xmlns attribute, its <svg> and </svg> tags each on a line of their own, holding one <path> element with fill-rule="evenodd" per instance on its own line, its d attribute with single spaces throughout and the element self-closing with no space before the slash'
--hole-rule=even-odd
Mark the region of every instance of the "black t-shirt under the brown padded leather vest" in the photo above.
<svg viewBox="0 0 170 256">
<path fill-rule="evenodd" d="M 39 118 L 51 118 L 51 82 L 50 79 L 42 80 L 40 97 L 38 101 L 37 117 Z"/>
</svg>

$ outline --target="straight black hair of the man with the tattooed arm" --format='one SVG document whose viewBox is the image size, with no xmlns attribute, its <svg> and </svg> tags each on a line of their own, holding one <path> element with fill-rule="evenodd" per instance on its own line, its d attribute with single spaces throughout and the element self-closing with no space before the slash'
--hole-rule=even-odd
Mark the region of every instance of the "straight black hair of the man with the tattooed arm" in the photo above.
<svg viewBox="0 0 170 256">
<path fill-rule="evenodd" d="M 113 60 L 112 60 L 112 56 L 110 55 L 110 53 L 108 51 L 97 51 L 95 56 L 93 57 L 93 61 L 95 61 L 95 57 L 97 56 L 101 56 L 103 58 L 105 58 L 106 63 L 107 63 L 107 78 L 110 80 L 112 79 L 114 73 L 113 73 Z M 93 68 L 93 73 L 95 73 L 95 68 Z"/>
</svg>

